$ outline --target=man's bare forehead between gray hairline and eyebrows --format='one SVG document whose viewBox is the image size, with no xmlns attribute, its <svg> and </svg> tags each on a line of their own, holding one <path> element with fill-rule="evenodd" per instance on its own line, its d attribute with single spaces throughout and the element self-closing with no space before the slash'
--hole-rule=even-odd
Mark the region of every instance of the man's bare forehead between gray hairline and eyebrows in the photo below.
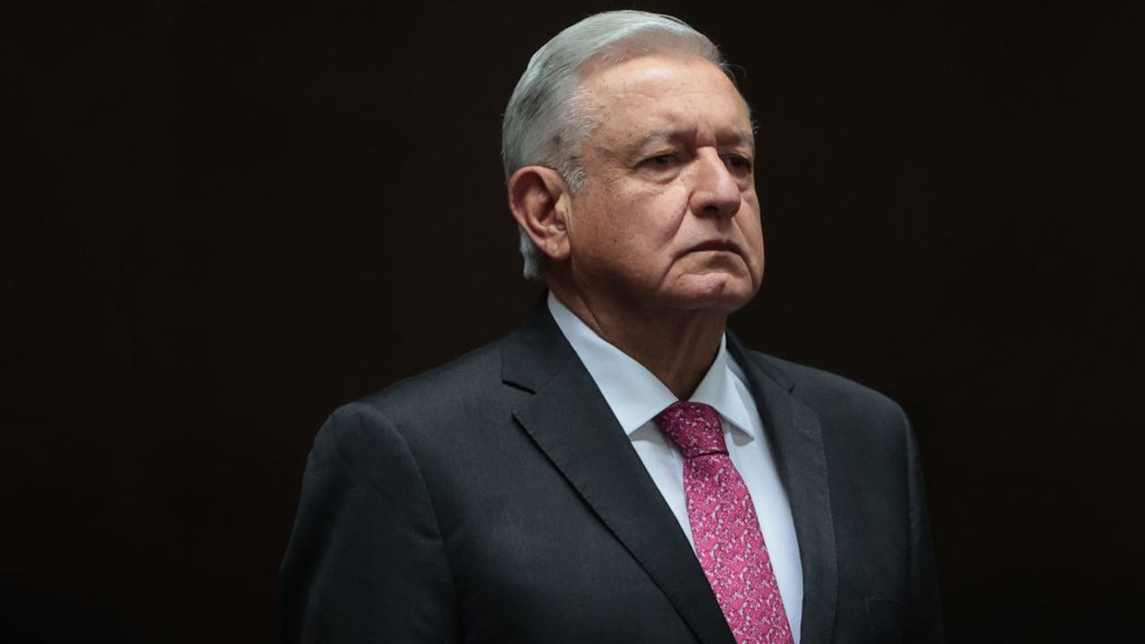
<svg viewBox="0 0 1145 644">
<path fill-rule="evenodd" d="M 657 132 L 751 139 L 743 97 L 719 68 L 703 58 L 633 58 L 590 71 L 582 87 L 597 112 L 591 138 L 600 142 L 646 139 Z"/>
</svg>

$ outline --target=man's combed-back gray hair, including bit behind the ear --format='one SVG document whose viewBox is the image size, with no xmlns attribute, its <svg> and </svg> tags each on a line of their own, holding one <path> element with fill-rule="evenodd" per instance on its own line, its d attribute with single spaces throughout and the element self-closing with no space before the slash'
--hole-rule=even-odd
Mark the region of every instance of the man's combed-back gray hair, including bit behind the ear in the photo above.
<svg viewBox="0 0 1145 644">
<path fill-rule="evenodd" d="M 529 60 L 502 121 L 505 180 L 527 165 L 555 170 L 574 194 L 589 181 L 581 147 L 594 119 L 581 88 L 590 62 L 614 65 L 653 54 L 697 56 L 724 70 L 727 62 L 704 34 L 672 16 L 622 10 L 595 14 L 561 31 Z M 524 276 L 540 280 L 547 257 L 520 229 Z"/>
</svg>

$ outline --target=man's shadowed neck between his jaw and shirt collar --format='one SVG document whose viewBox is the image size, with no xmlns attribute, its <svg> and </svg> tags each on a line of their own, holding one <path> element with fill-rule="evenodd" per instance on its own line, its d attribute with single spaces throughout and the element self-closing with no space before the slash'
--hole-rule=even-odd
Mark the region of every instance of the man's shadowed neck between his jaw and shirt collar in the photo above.
<svg viewBox="0 0 1145 644">
<path fill-rule="evenodd" d="M 652 371 L 680 400 L 692 398 L 719 352 L 726 313 L 635 311 L 608 298 L 586 298 L 553 281 L 550 289 L 598 336 Z"/>
</svg>

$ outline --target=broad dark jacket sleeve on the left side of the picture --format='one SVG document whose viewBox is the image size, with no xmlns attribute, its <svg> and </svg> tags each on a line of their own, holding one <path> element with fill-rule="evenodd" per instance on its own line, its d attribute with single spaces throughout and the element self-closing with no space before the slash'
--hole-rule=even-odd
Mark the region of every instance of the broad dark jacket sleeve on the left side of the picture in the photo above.
<svg viewBox="0 0 1145 644">
<path fill-rule="evenodd" d="M 282 641 L 457 642 L 451 572 L 409 445 L 365 403 L 318 432 L 281 571 Z"/>
</svg>

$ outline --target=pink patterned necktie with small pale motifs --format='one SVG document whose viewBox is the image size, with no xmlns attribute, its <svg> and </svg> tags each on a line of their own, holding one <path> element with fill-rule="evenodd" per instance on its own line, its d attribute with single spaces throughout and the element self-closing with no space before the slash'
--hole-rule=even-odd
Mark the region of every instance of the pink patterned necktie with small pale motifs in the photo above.
<svg viewBox="0 0 1145 644">
<path fill-rule="evenodd" d="M 656 424 L 684 454 L 684 493 L 700 565 L 740 644 L 792 644 L 780 588 L 748 486 L 714 408 L 673 402 Z"/>
</svg>

